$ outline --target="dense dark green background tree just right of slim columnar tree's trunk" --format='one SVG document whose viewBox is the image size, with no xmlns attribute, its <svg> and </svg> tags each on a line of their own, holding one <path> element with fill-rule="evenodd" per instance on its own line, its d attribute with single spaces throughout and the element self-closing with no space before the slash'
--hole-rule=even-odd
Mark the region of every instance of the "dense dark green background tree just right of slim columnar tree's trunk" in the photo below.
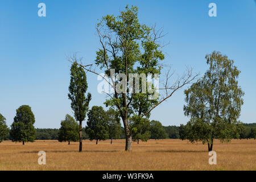
<svg viewBox="0 0 256 182">
<path fill-rule="evenodd" d="M 93 106 L 88 112 L 88 121 L 86 133 L 89 135 L 90 140 L 106 140 L 108 135 L 108 122 L 105 110 L 101 106 Z"/>
</svg>

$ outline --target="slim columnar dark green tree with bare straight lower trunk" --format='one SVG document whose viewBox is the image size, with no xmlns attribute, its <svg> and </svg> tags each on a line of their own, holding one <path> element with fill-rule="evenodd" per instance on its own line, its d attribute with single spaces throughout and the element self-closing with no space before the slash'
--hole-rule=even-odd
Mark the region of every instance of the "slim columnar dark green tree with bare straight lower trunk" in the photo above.
<svg viewBox="0 0 256 182">
<path fill-rule="evenodd" d="M 71 100 L 71 108 L 74 111 L 76 121 L 79 121 L 79 152 L 82 151 L 82 121 L 86 117 L 89 102 L 92 99 L 90 93 L 85 97 L 87 88 L 85 71 L 74 62 L 71 67 L 68 98 Z"/>
</svg>

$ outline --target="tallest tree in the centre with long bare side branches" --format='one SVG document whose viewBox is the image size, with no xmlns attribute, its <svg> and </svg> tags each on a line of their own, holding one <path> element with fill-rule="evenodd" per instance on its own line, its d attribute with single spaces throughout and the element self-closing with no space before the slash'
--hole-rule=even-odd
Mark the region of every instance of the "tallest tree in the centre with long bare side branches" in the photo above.
<svg viewBox="0 0 256 182">
<path fill-rule="evenodd" d="M 119 117 L 122 118 L 125 128 L 125 150 L 131 151 L 133 129 L 129 126 L 128 119 L 133 115 L 149 118 L 150 112 L 155 107 L 170 98 L 176 90 L 189 84 L 195 77 L 192 76 L 191 70 L 188 70 L 188 73 L 178 78 L 172 86 L 169 86 L 168 80 L 171 75 L 167 74 L 164 88 L 159 88 L 164 92 L 164 96 L 161 98 L 158 94 L 158 88 L 152 86 L 150 80 L 148 80 L 147 85 L 151 85 L 151 88 L 155 89 L 156 92 L 154 93 L 148 89 L 146 93 L 138 93 L 135 92 L 134 84 L 129 85 L 130 73 L 152 74 L 158 78 L 155 74 L 161 73 L 163 67 L 160 61 L 164 60 L 163 45 L 160 45 L 162 43 L 159 41 L 164 36 L 163 31 L 155 31 L 155 27 L 150 28 L 146 24 L 139 23 L 136 6 L 131 8 L 126 6 L 125 10 L 121 11 L 118 16 L 104 16 L 97 24 L 97 34 L 101 48 L 96 52 L 95 64 L 103 69 L 108 77 L 112 75 L 114 70 L 114 78 L 117 78 L 110 77 L 110 81 L 108 81 L 102 76 L 113 89 L 113 93 L 106 93 L 109 99 L 106 100 L 105 104 L 115 107 L 119 111 Z M 71 61 L 76 60 L 76 57 L 71 57 Z M 80 64 L 80 66 L 86 71 L 101 76 L 89 65 Z M 125 74 L 125 77 L 122 79 L 116 77 L 118 73 Z M 142 86 L 141 81 L 139 82 L 138 85 Z M 119 92 L 119 90 L 122 91 Z M 131 90 L 131 92 L 127 92 L 127 90 Z M 148 99 L 150 97 L 152 99 Z"/>
</svg>

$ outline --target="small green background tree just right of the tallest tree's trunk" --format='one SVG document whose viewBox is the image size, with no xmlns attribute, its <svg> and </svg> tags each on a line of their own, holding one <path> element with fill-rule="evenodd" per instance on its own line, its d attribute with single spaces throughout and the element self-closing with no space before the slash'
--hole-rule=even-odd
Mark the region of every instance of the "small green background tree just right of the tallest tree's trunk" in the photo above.
<svg viewBox="0 0 256 182">
<path fill-rule="evenodd" d="M 130 126 L 133 131 L 133 141 L 137 141 L 138 144 L 139 140 L 147 142 L 151 136 L 149 119 L 134 116 L 130 120 Z"/>
</svg>

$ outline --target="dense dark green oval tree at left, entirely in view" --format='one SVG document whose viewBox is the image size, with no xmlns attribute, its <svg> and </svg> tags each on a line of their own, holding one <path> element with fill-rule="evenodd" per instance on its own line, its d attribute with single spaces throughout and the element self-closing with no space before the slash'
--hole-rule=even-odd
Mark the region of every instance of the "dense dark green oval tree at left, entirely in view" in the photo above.
<svg viewBox="0 0 256 182">
<path fill-rule="evenodd" d="M 10 135 L 14 142 L 34 142 L 35 116 L 28 105 L 22 105 L 16 110 L 14 122 L 11 125 Z"/>
</svg>

